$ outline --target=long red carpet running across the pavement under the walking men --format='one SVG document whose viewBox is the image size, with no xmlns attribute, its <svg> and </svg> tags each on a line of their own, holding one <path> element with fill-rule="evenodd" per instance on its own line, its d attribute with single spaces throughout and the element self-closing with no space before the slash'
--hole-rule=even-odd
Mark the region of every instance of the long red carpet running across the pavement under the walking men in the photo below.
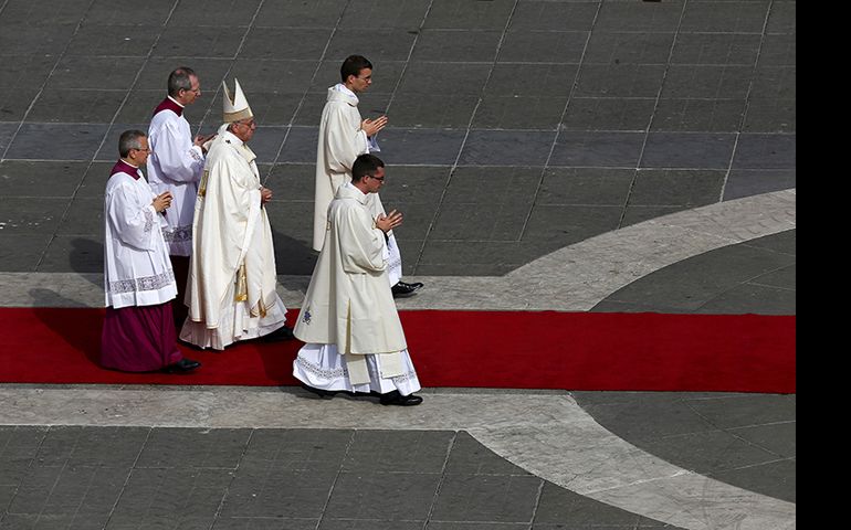
<svg viewBox="0 0 851 530">
<path fill-rule="evenodd" d="M 288 315 L 292 322 L 297 317 Z M 402 311 L 423 386 L 796 391 L 796 317 Z M 97 365 L 102 309 L 0 308 L 0 382 L 294 385 L 301 342 L 187 357 L 191 375 Z"/>
</svg>

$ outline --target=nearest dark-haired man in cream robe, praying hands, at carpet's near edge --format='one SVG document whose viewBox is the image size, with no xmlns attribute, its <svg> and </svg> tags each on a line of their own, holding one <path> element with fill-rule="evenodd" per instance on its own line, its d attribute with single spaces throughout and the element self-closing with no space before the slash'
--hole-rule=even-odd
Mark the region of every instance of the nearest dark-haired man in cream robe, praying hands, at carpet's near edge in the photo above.
<svg viewBox="0 0 851 530">
<path fill-rule="evenodd" d="M 327 230 L 294 335 L 306 342 L 293 375 L 322 398 L 380 394 L 382 405 L 418 405 L 417 371 L 387 280 L 387 236 L 402 222 L 377 216 L 368 197 L 384 186 L 384 162 L 361 155 L 328 208 Z"/>
</svg>

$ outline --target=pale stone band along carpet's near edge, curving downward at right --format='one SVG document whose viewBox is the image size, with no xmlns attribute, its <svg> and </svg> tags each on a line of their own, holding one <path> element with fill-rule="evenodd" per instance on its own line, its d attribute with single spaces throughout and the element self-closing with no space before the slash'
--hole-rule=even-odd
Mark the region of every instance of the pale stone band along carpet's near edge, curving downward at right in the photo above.
<svg viewBox="0 0 851 530">
<path fill-rule="evenodd" d="M 0 424 L 467 431 L 558 486 L 689 530 L 790 530 L 796 505 L 669 464 L 603 428 L 568 394 L 434 393 L 416 409 L 279 390 L 0 388 Z"/>
</svg>

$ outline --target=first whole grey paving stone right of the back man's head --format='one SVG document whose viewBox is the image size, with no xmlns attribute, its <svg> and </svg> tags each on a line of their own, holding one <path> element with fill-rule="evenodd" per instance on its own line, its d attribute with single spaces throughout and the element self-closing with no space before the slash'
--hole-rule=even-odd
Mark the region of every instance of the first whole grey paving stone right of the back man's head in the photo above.
<svg viewBox="0 0 851 530">
<path fill-rule="evenodd" d="M 477 96 L 487 81 L 491 67 L 491 63 L 411 63 L 405 71 L 398 93 Z"/>
</svg>

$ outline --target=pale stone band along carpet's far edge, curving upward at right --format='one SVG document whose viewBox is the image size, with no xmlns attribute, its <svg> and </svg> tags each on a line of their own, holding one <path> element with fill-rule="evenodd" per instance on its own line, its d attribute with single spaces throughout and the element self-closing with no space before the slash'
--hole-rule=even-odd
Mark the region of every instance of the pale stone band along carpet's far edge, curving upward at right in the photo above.
<svg viewBox="0 0 851 530">
<path fill-rule="evenodd" d="M 585 311 L 668 265 L 796 226 L 796 190 L 672 213 L 559 248 L 505 276 L 418 277 L 428 284 L 400 309 Z M 307 276 L 279 276 L 287 307 L 301 307 Z M 101 274 L 0 273 L 0 306 L 103 306 Z"/>
</svg>

